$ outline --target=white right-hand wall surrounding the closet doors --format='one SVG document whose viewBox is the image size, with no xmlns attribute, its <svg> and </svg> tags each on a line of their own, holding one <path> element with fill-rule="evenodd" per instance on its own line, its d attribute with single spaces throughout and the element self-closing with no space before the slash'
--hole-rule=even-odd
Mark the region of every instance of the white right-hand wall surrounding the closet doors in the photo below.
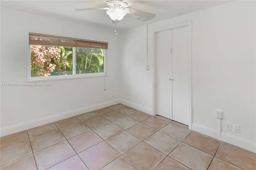
<svg viewBox="0 0 256 170">
<path fill-rule="evenodd" d="M 254 1 L 235 1 L 148 26 L 150 29 L 192 21 L 192 129 L 218 138 L 216 110 L 222 110 L 221 140 L 253 152 L 256 152 L 255 19 Z M 144 69 L 146 26 L 122 32 L 120 41 L 123 44 L 120 98 L 130 106 L 146 107 L 148 113 L 154 114 L 154 73 L 152 69 Z M 149 56 L 152 68 L 154 55 Z M 241 133 L 226 130 L 226 122 L 240 125 Z"/>
</svg>

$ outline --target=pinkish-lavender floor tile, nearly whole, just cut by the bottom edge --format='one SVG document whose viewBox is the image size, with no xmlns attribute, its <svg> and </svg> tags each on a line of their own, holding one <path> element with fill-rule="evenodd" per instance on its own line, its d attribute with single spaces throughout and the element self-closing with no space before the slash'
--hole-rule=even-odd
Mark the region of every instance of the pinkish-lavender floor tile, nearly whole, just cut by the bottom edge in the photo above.
<svg viewBox="0 0 256 170">
<path fill-rule="evenodd" d="M 120 154 L 106 142 L 101 142 L 78 155 L 86 164 L 88 169 L 93 170 L 98 170 L 104 167 L 106 164 L 120 156 Z"/>
</svg>

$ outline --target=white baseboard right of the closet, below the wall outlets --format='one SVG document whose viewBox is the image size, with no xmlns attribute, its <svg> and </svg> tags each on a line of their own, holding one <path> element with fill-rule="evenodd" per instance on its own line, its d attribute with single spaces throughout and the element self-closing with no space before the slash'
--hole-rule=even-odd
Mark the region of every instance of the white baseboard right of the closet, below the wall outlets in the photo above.
<svg viewBox="0 0 256 170">
<path fill-rule="evenodd" d="M 219 137 L 220 132 L 218 130 L 211 129 L 206 126 L 202 126 L 202 125 L 195 124 L 195 123 L 192 124 L 192 130 L 220 140 L 220 137 Z M 256 143 L 255 142 L 252 142 L 252 141 L 249 141 L 246 139 L 242 139 L 242 138 L 239 138 L 239 137 L 236 137 L 236 136 L 224 133 L 224 132 L 221 132 L 221 141 L 227 142 L 229 144 L 232 144 L 232 145 L 235 145 L 240 148 L 243 148 L 243 149 L 246 149 L 246 150 L 256 153 Z"/>
</svg>

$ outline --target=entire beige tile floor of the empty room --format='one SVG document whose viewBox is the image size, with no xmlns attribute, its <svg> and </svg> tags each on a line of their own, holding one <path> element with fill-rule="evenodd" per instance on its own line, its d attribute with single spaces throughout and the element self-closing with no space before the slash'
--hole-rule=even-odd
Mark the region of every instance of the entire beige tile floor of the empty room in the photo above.
<svg viewBox="0 0 256 170">
<path fill-rule="evenodd" d="M 256 170 L 256 154 L 122 104 L 0 138 L 1 170 Z"/>
</svg>

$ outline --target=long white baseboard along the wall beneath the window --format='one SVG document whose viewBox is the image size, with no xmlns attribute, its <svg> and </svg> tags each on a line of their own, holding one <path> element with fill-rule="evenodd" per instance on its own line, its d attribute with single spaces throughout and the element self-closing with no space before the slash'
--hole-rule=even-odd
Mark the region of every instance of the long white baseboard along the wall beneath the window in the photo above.
<svg viewBox="0 0 256 170">
<path fill-rule="evenodd" d="M 83 113 L 86 113 L 86 112 L 91 112 L 93 110 L 97 110 L 97 109 L 100 109 L 100 108 L 105 108 L 105 107 L 112 106 L 112 105 L 118 104 L 118 103 L 120 103 L 119 99 L 112 100 L 112 101 L 108 101 L 108 102 L 104 102 L 104 103 L 100 103 L 100 104 L 95 104 L 95 105 L 92 105 L 92 106 L 87 106 L 87 107 L 84 107 L 84 108 L 79 108 L 79 109 L 76 109 L 76 110 L 71 110 L 71 111 L 68 111 L 68 112 L 60 113 L 60 114 L 55 114 L 53 116 L 48 116 L 46 118 L 41 118 L 41 119 L 25 122 L 25 123 L 22 123 L 22 124 L 18 124 L 18 125 L 9 126 L 9 127 L 6 127 L 6 128 L 1 128 L 0 135 L 1 135 L 1 137 L 6 136 L 8 134 L 13 134 L 13 133 L 20 132 L 20 131 L 23 131 L 23 130 L 28 130 L 28 129 L 31 129 L 31 128 L 35 128 L 37 126 L 42 126 L 44 124 L 48 124 L 48 123 L 51 123 L 51 122 L 56 122 L 58 120 L 62 120 L 62 119 L 69 118 L 69 117 L 72 117 L 72 116 L 76 116 L 76 115 L 79 115 L 79 114 L 83 114 Z"/>
</svg>

